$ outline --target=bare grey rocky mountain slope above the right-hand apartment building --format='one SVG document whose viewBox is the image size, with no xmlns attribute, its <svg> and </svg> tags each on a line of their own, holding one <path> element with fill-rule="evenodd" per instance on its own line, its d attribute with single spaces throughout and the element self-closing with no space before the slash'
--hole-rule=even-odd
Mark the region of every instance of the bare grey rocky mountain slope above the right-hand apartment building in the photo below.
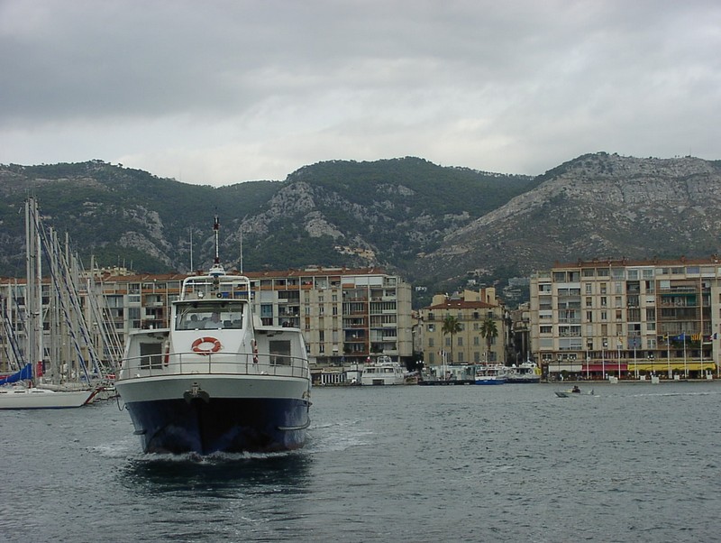
<svg viewBox="0 0 721 543">
<path fill-rule="evenodd" d="M 561 164 L 421 259 L 457 272 L 603 257 L 710 255 L 721 247 L 721 167 L 599 152 Z"/>
</svg>

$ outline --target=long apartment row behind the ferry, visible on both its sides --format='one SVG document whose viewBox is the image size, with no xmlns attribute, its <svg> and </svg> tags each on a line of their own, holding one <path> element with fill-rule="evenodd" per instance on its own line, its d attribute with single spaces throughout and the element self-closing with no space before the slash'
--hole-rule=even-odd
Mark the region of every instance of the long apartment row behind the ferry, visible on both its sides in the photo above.
<svg viewBox="0 0 721 543">
<path fill-rule="evenodd" d="M 312 363 L 360 364 L 388 354 L 406 362 L 413 354 L 410 285 L 378 269 L 308 268 L 249 272 L 253 310 L 263 323 L 304 331 Z M 169 326 L 170 304 L 178 299 L 185 274 L 106 271 L 82 295 L 102 296 L 105 321 L 122 344 L 136 329 Z M 23 316 L 24 284 L 0 282 L 5 313 Z M 44 297 L 44 303 L 50 303 Z M 88 322 L 91 318 L 88 318 Z M 18 326 L 17 336 L 23 336 Z M 9 339 L 0 332 L 2 341 Z M 104 341 L 97 338 L 98 343 Z M 23 340 L 19 342 L 23 345 Z M 100 346 L 103 349 L 102 345 Z"/>
</svg>

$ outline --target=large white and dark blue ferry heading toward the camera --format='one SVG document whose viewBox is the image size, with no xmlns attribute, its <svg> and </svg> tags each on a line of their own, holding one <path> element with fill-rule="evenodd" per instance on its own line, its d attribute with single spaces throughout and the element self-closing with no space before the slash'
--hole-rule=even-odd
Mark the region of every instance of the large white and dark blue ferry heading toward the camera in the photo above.
<svg viewBox="0 0 721 543">
<path fill-rule="evenodd" d="M 298 328 L 264 326 L 251 281 L 218 259 L 189 276 L 170 327 L 133 332 L 115 388 L 146 453 L 273 452 L 304 445 L 311 377 Z"/>
</svg>

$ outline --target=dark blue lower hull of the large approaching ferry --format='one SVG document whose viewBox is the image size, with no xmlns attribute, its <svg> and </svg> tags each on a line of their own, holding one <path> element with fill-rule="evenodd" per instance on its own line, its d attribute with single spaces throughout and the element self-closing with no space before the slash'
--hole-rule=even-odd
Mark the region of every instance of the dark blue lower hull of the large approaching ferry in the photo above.
<svg viewBox="0 0 721 543">
<path fill-rule="evenodd" d="M 194 398 L 127 404 L 146 453 L 267 453 L 306 440 L 307 400 Z"/>
</svg>

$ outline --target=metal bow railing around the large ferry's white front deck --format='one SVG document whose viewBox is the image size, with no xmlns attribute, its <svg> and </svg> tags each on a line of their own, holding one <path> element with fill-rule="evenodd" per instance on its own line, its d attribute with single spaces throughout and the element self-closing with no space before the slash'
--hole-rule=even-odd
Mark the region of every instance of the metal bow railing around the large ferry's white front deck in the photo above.
<svg viewBox="0 0 721 543">
<path fill-rule="evenodd" d="M 145 354 L 124 358 L 119 380 L 170 375 L 268 375 L 310 378 L 306 358 L 286 354 Z"/>
</svg>

